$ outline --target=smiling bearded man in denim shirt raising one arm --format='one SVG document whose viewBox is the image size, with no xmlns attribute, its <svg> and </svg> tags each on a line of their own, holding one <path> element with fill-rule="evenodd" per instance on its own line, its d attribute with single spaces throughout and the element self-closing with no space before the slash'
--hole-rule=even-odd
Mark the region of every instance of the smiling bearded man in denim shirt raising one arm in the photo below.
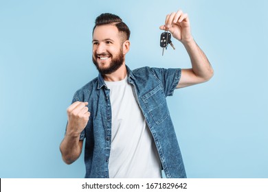
<svg viewBox="0 0 268 192">
<path fill-rule="evenodd" d="M 181 10 L 166 16 L 168 30 L 188 51 L 191 69 L 126 67 L 129 27 L 114 14 L 101 14 L 93 28 L 93 63 L 100 72 L 76 91 L 67 108 L 60 152 L 67 164 L 82 152 L 86 178 L 186 178 L 166 97 L 175 88 L 210 80 L 210 62 L 190 33 Z"/>
</svg>

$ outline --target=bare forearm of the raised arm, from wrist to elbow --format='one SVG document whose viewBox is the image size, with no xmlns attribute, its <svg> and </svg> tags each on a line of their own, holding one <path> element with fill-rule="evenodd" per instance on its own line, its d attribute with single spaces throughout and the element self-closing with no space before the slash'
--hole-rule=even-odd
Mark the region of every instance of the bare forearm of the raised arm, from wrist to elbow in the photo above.
<svg viewBox="0 0 268 192">
<path fill-rule="evenodd" d="M 183 45 L 186 47 L 190 56 L 192 72 L 194 75 L 202 79 L 204 82 L 210 80 L 214 72 L 205 53 L 203 53 L 193 38 L 183 42 Z"/>
</svg>

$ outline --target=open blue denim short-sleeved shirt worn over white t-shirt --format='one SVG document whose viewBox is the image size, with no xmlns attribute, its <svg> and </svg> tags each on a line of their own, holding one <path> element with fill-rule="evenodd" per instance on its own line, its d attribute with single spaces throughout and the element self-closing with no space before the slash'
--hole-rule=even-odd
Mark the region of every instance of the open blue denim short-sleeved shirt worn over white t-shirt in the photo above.
<svg viewBox="0 0 268 192">
<path fill-rule="evenodd" d="M 177 136 L 166 97 L 173 94 L 181 69 L 142 67 L 128 71 L 128 82 L 153 136 L 166 178 L 186 178 Z M 74 101 L 89 102 L 91 112 L 80 140 L 85 140 L 85 178 L 109 178 L 111 150 L 111 102 L 102 75 L 80 88 Z"/>
</svg>

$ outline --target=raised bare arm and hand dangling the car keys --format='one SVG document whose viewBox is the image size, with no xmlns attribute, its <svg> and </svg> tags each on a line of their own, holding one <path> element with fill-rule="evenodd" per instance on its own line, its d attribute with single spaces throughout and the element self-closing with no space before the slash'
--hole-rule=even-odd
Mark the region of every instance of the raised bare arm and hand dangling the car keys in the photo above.
<svg viewBox="0 0 268 192">
<path fill-rule="evenodd" d="M 181 10 L 168 14 L 165 25 L 161 25 L 160 29 L 168 30 L 174 38 L 186 47 L 190 56 L 192 68 L 181 70 L 181 79 L 177 88 L 200 84 L 210 80 L 214 71 L 205 53 L 203 53 L 192 37 L 188 14 L 183 13 Z"/>
</svg>

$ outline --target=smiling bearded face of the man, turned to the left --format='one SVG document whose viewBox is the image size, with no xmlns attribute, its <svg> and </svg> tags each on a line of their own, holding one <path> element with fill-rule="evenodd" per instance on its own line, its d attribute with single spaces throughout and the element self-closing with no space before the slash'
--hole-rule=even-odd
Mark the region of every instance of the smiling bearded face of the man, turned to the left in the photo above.
<svg viewBox="0 0 268 192">
<path fill-rule="evenodd" d="M 114 25 L 97 26 L 93 32 L 92 60 L 102 74 L 111 74 L 124 63 L 122 39 Z"/>
</svg>

